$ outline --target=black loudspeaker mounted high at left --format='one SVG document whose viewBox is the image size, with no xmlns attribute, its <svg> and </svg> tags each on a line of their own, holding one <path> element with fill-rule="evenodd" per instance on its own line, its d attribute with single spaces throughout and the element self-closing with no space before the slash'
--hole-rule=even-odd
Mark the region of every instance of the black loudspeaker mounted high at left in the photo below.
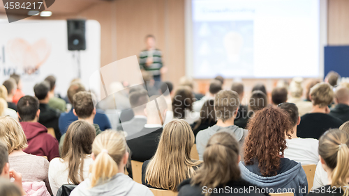
<svg viewBox="0 0 349 196">
<path fill-rule="evenodd" d="M 67 19 L 68 50 L 85 50 L 85 20 Z"/>
</svg>

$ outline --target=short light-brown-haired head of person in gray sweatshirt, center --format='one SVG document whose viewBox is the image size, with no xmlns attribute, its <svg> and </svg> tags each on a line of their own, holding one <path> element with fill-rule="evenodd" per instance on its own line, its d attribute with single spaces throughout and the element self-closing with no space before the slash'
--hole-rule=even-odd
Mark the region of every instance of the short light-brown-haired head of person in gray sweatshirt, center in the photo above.
<svg viewBox="0 0 349 196">
<path fill-rule="evenodd" d="M 221 120 L 223 123 L 236 117 L 239 106 L 239 95 L 232 90 L 221 90 L 214 98 L 217 120 Z"/>
</svg>

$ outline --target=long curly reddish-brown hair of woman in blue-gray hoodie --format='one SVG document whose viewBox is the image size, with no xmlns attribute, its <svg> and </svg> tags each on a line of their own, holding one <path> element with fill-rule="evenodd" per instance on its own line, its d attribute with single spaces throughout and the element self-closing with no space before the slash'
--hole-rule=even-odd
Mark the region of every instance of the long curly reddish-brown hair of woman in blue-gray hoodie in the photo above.
<svg viewBox="0 0 349 196">
<path fill-rule="evenodd" d="M 263 177 L 276 175 L 286 148 L 285 133 L 292 129 L 290 117 L 280 108 L 268 106 L 255 113 L 255 117 L 248 122 L 247 129 L 245 164 L 253 165 L 253 161 L 258 161 Z"/>
</svg>

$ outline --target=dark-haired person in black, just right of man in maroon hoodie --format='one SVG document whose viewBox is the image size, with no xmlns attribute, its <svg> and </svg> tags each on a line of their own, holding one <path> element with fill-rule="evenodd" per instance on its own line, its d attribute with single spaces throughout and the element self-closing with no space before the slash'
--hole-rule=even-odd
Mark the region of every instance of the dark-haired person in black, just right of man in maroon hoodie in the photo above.
<svg viewBox="0 0 349 196">
<path fill-rule="evenodd" d="M 43 81 L 34 85 L 35 97 L 39 100 L 40 116 L 38 122 L 46 126 L 47 128 L 53 128 L 57 140 L 61 139 L 61 132 L 58 127 L 59 111 L 51 108 L 48 103 L 50 100 L 50 84 L 47 81 Z"/>
</svg>

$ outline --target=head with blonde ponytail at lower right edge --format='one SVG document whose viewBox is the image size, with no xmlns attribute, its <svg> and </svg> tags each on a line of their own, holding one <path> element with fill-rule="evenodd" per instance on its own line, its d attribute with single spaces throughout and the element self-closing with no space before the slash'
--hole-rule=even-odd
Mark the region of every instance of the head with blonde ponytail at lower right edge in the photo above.
<svg viewBox="0 0 349 196">
<path fill-rule="evenodd" d="M 324 168 L 332 179 L 331 187 L 349 186 L 349 135 L 339 129 L 329 129 L 319 139 L 319 155 Z M 344 195 L 348 196 L 346 192 Z"/>
</svg>

